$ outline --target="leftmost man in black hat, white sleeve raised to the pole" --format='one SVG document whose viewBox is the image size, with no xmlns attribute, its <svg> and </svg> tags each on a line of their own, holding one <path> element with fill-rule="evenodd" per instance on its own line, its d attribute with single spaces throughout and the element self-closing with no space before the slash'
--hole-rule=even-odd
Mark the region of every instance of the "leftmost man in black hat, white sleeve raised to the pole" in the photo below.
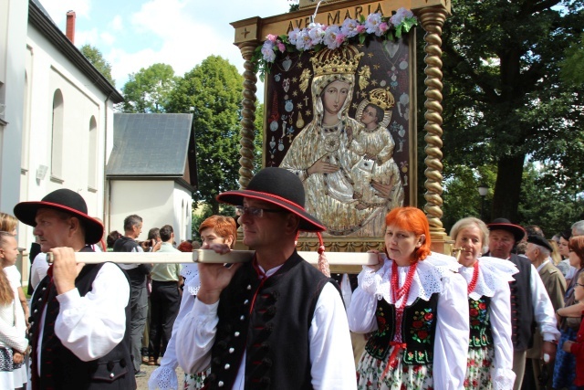
<svg viewBox="0 0 584 390">
<path fill-rule="evenodd" d="M 135 389 L 128 278 L 115 264 L 75 260 L 75 252 L 93 251 L 90 245 L 103 236 L 101 223 L 68 189 L 21 202 L 15 215 L 35 227 L 41 250 L 54 257 L 31 300 L 32 389 Z"/>
</svg>

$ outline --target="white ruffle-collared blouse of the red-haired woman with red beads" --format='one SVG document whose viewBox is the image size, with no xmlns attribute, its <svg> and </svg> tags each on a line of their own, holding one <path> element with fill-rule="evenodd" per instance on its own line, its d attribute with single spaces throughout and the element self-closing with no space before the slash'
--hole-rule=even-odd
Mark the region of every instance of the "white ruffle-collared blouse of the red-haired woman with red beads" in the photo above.
<svg viewBox="0 0 584 390">
<path fill-rule="evenodd" d="M 391 298 L 391 264 L 392 261 L 386 259 L 377 272 L 363 267 L 359 275 L 360 287 L 353 292 L 347 313 L 352 332 L 377 331 L 375 312 L 378 300 L 395 303 Z M 400 285 L 403 285 L 409 269 L 398 268 Z M 429 300 L 433 293 L 439 293 L 433 341 L 433 386 L 435 389 L 459 390 L 464 388 L 469 338 L 466 282 L 459 274 L 446 271 L 441 275 L 436 269 L 428 258 L 418 262 L 406 306 L 411 306 L 418 298 Z"/>
</svg>

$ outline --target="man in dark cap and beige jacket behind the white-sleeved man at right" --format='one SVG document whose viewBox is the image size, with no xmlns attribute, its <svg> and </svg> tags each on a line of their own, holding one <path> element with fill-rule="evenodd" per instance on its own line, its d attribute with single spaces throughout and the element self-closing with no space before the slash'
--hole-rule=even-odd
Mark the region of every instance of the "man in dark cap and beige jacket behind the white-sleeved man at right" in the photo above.
<svg viewBox="0 0 584 390">
<path fill-rule="evenodd" d="M 541 281 L 543 281 L 546 287 L 547 295 L 551 301 L 554 311 L 559 308 L 564 307 L 564 294 L 566 293 L 566 279 L 562 273 L 557 269 L 551 262 L 549 257 L 553 248 L 547 242 L 546 237 L 542 236 L 528 236 L 527 237 L 527 248 L 526 256 L 531 261 L 531 264 L 537 269 Z M 528 378 L 527 375 L 524 380 L 524 388 L 526 388 L 527 383 L 531 380 L 531 385 L 529 388 L 538 389 L 539 381 L 537 378 L 540 376 L 542 371 L 541 365 L 541 344 L 543 343 L 543 338 L 541 334 L 536 330 L 533 337 L 533 347 L 527 351 L 527 364 L 531 364 L 533 368 L 533 375 Z M 550 368 L 553 370 L 553 367 Z M 529 371 L 529 370 L 527 370 Z M 551 374 L 551 372 L 549 373 Z M 551 384 L 552 375 L 547 375 L 547 382 Z"/>
</svg>

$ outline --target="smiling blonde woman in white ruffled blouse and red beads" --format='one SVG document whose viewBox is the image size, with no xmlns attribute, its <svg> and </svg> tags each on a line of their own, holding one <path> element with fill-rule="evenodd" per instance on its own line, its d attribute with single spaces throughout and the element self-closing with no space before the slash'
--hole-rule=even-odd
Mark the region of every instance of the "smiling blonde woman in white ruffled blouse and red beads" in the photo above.
<svg viewBox="0 0 584 390">
<path fill-rule="evenodd" d="M 450 231 L 460 249 L 460 273 L 468 283 L 470 338 L 465 389 L 512 389 L 511 292 L 515 264 L 500 258 L 479 258 L 488 246 L 489 230 L 480 219 L 468 217 Z"/>
</svg>

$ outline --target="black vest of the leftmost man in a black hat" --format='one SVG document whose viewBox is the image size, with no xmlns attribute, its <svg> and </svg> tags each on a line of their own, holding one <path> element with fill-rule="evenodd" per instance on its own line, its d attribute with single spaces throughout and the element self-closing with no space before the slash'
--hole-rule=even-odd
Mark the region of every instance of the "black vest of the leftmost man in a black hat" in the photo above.
<svg viewBox="0 0 584 390">
<path fill-rule="evenodd" d="M 83 248 L 81 251 L 92 251 Z M 91 290 L 91 284 L 103 264 L 86 265 L 75 279 L 80 296 Z M 125 273 L 124 273 L 125 275 Z M 87 389 L 87 390 L 129 390 L 136 388 L 132 360 L 130 358 L 130 305 L 126 305 L 126 332 L 124 338 L 105 356 L 90 362 L 81 361 L 68 350 L 54 332 L 59 311 L 57 289 L 50 278 L 43 279 L 35 290 L 31 304 L 31 330 L 28 338 L 32 346 L 31 374 L 33 390 L 43 389 Z M 47 300 L 42 344 L 38 345 L 38 324 L 40 324 L 44 302 Z M 41 351 L 41 376 L 38 377 L 36 352 Z"/>
</svg>

